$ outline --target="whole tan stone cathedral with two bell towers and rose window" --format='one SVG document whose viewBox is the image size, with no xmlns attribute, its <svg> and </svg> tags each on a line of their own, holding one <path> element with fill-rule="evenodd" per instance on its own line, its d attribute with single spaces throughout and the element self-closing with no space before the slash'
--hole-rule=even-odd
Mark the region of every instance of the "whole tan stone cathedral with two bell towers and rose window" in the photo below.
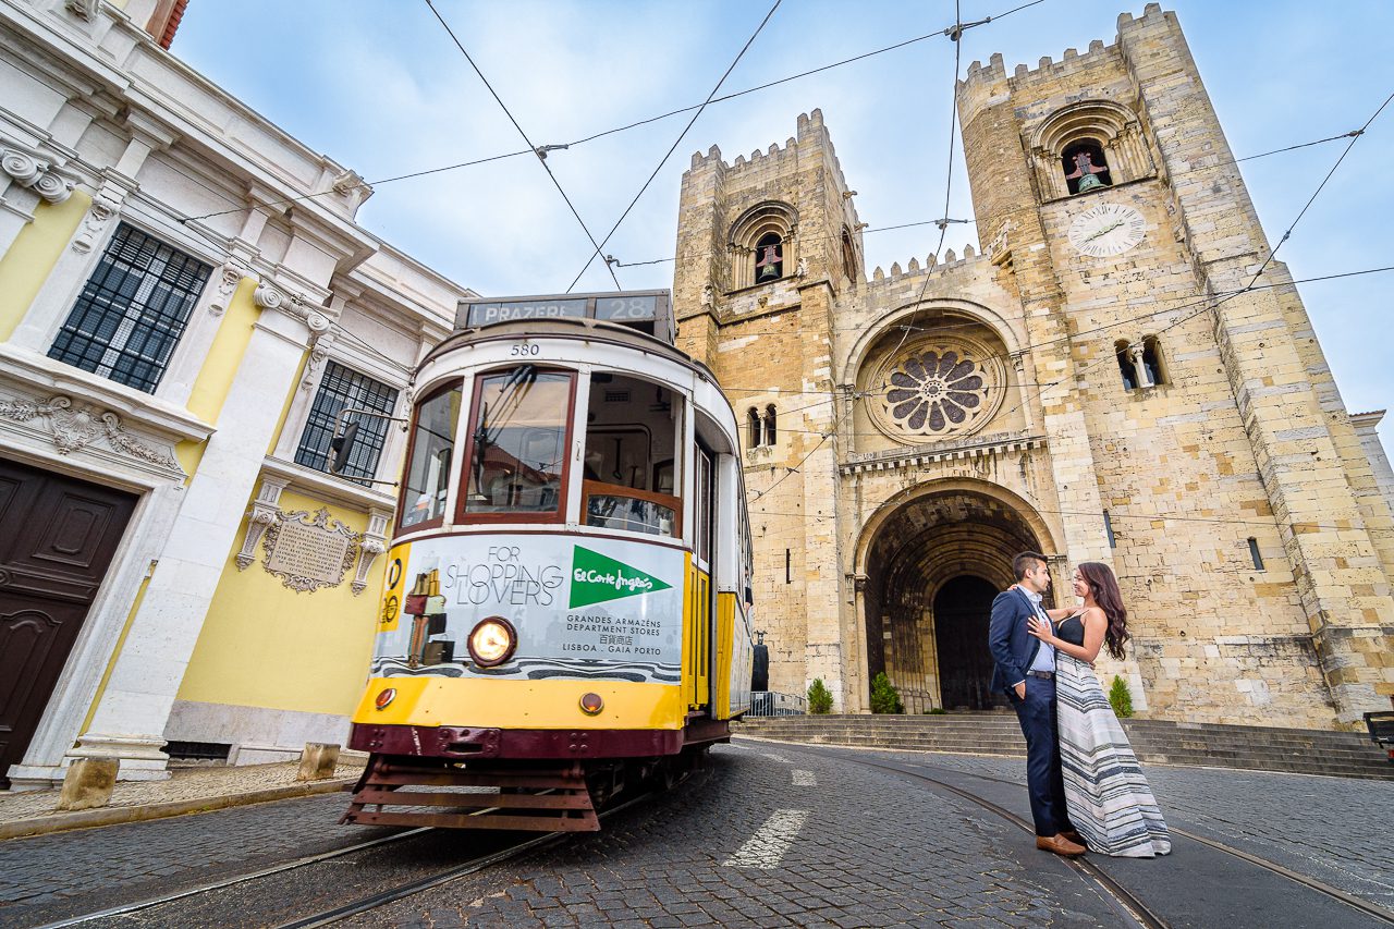
<svg viewBox="0 0 1394 929">
<path fill-rule="evenodd" d="M 769 688 L 866 711 L 884 671 L 912 713 L 997 704 L 990 604 L 1036 550 L 1069 603 L 1073 565 L 1112 566 L 1133 640 L 1098 674 L 1147 716 L 1390 709 L 1379 413 L 1342 405 L 1175 15 L 973 63 L 958 110 L 962 255 L 866 268 L 818 110 L 683 176 L 679 345 L 742 417 Z"/>
</svg>

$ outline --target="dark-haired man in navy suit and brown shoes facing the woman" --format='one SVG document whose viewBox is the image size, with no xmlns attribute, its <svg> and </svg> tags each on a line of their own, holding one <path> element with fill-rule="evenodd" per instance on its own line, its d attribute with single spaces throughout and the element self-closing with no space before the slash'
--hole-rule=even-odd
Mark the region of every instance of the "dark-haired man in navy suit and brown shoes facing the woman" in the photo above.
<svg viewBox="0 0 1394 929">
<path fill-rule="evenodd" d="M 1036 847 L 1073 858 L 1085 854 L 1065 809 L 1055 730 L 1055 649 L 1026 629 L 1032 617 L 1046 622 L 1041 596 L 1050 590 L 1046 555 L 1023 551 L 1012 559 L 1016 586 L 997 594 L 987 630 L 993 651 L 993 689 L 1006 693 L 1026 737 L 1026 787 L 1036 820 Z"/>
</svg>

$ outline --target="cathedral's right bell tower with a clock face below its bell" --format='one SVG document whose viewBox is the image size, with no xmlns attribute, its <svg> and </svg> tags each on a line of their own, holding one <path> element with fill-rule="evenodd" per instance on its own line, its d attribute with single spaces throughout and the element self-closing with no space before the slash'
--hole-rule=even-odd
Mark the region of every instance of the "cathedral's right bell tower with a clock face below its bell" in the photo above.
<svg viewBox="0 0 1394 929">
<path fill-rule="evenodd" d="M 1012 75 L 974 63 L 959 114 L 1066 536 L 1110 513 L 1153 709 L 1388 709 L 1390 509 L 1175 14 L 1147 4 L 1112 45 Z"/>
</svg>

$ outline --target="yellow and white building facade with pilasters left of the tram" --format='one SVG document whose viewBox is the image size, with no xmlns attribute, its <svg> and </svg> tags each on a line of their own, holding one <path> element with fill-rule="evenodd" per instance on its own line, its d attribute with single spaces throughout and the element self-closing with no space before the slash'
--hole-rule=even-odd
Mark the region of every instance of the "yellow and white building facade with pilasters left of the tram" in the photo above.
<svg viewBox="0 0 1394 929">
<path fill-rule="evenodd" d="M 379 430 L 365 481 L 325 473 L 305 437 L 350 378 L 410 409 L 411 370 L 474 296 L 357 225 L 358 174 L 166 52 L 181 10 L 0 3 L 0 787 L 82 757 L 164 778 L 167 743 L 254 763 L 346 734 L 396 502 L 371 481 L 395 478 L 406 434 Z M 96 357 L 57 347 L 92 325 L 78 307 L 103 321 Z M 153 329 L 173 335 L 130 335 Z M 132 384 L 107 356 L 156 370 Z M 43 534 L 59 511 L 31 487 L 78 499 L 63 531 Z M 128 498 L 128 522 L 81 522 L 93 492 Z M 350 538 L 342 572 L 283 583 L 262 540 L 318 513 Z M 88 565 L 93 537 L 107 558 Z"/>
</svg>

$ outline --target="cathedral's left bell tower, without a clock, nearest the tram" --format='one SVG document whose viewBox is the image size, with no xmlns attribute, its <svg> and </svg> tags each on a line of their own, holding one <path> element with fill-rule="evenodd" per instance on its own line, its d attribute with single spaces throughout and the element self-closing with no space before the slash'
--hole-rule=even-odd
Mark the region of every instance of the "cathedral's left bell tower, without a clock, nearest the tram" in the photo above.
<svg viewBox="0 0 1394 929">
<path fill-rule="evenodd" d="M 836 564 L 834 318 L 863 279 L 853 194 L 813 110 L 783 146 L 693 155 L 679 206 L 677 347 L 717 372 L 742 420 L 756 625 L 779 629 L 769 686 L 793 693 L 815 677 L 841 690 L 841 577 L 821 566 Z M 813 529 L 803 512 L 829 516 Z"/>
</svg>

